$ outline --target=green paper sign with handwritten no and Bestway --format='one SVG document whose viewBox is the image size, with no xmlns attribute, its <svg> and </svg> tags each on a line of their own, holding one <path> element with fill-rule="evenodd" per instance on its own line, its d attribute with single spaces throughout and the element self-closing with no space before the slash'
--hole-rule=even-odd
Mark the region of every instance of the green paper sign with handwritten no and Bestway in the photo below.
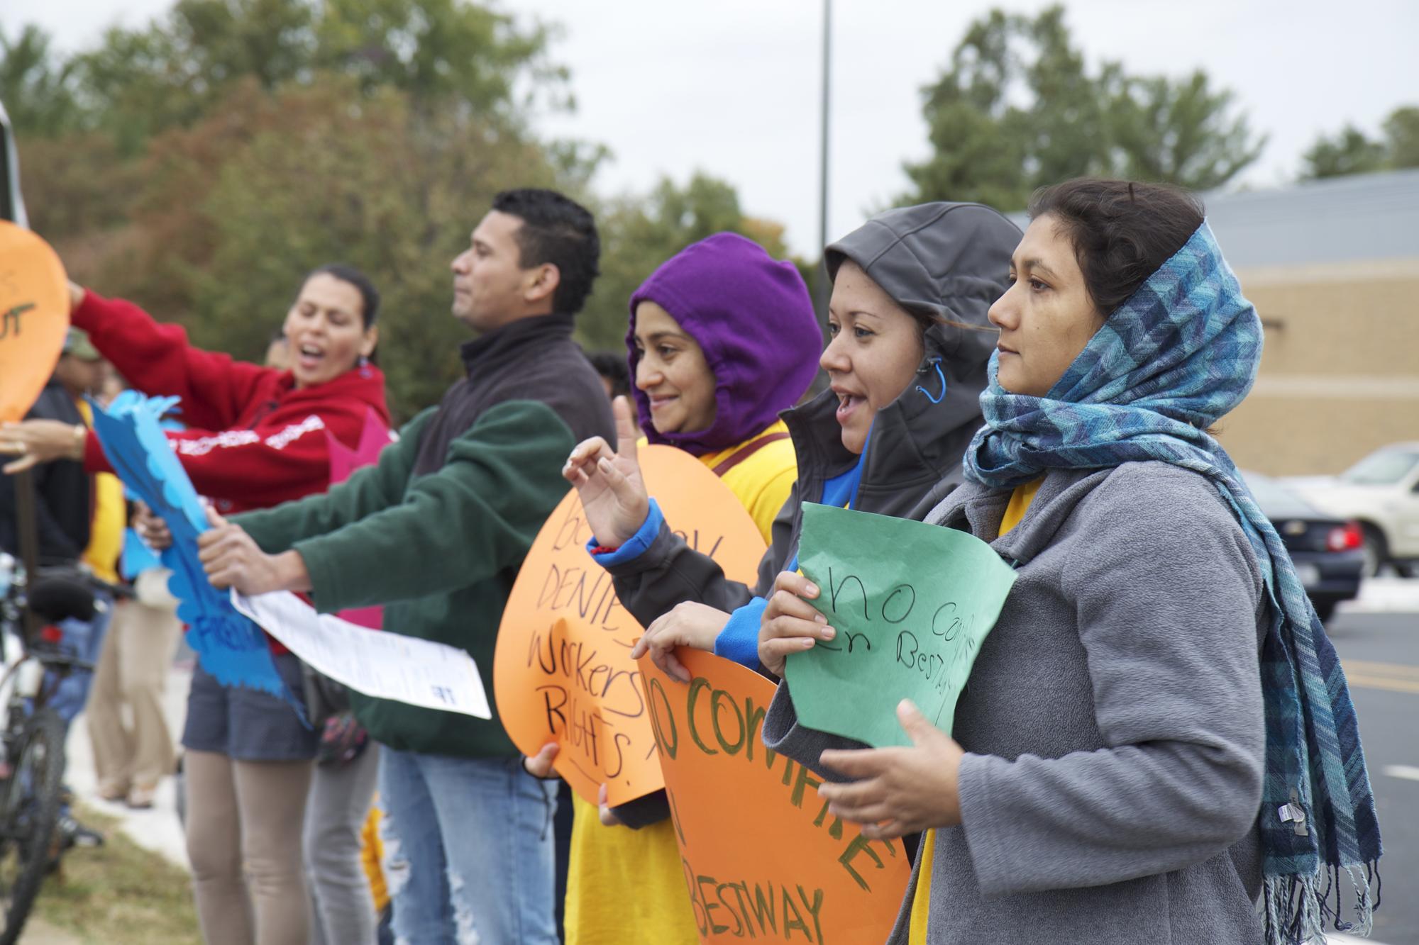
<svg viewBox="0 0 1419 945">
<path fill-rule="evenodd" d="M 799 721 L 877 748 L 910 745 L 895 711 L 910 698 L 949 735 L 1015 570 L 973 535 L 816 504 L 803 505 L 799 568 L 837 630 L 785 664 Z"/>
</svg>

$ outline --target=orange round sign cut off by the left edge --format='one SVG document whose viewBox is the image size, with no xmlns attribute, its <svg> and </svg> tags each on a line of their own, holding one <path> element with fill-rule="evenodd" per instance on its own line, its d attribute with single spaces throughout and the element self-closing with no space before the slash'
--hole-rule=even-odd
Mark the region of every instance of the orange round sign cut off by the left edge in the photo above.
<svg viewBox="0 0 1419 945">
<path fill-rule="evenodd" d="M 0 423 L 34 406 L 64 350 L 70 282 L 50 244 L 0 220 Z"/>
</svg>

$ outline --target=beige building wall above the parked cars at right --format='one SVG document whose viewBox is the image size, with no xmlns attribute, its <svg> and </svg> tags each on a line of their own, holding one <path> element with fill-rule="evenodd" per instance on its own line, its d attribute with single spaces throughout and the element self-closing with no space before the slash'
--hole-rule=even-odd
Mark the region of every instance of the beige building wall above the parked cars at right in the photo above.
<svg viewBox="0 0 1419 945">
<path fill-rule="evenodd" d="M 1239 270 L 1266 326 L 1256 387 L 1222 419 L 1237 465 L 1345 470 L 1419 441 L 1419 260 Z"/>
</svg>

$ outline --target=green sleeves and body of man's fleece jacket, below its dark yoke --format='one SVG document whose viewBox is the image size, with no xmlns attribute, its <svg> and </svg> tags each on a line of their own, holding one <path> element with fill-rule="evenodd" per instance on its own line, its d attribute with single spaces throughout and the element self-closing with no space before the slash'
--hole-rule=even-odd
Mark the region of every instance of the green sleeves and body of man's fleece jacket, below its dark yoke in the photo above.
<svg viewBox="0 0 1419 945">
<path fill-rule="evenodd" d="M 504 402 L 448 444 L 441 470 L 414 475 L 436 413 L 420 413 L 379 463 L 328 492 L 233 521 L 268 553 L 301 553 L 316 610 L 382 603 L 386 629 L 463 647 L 478 664 L 490 721 L 352 691 L 370 738 L 431 755 L 511 755 L 492 698 L 498 623 L 532 539 L 566 495 L 561 470 L 575 443 L 546 404 Z"/>
</svg>

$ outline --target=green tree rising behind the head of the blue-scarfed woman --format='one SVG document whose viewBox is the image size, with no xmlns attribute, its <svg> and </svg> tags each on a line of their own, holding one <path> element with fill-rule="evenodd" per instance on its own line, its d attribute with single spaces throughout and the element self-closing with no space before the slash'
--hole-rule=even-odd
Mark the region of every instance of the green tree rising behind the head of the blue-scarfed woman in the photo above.
<svg viewBox="0 0 1419 945">
<path fill-rule="evenodd" d="M 979 200 L 1019 210 L 1036 187 L 1087 175 L 1218 187 L 1260 155 L 1233 96 L 1198 71 L 1090 71 L 1054 6 L 1036 17 L 992 10 L 966 30 L 922 89 L 932 155 L 907 163 L 904 201 Z"/>
</svg>

